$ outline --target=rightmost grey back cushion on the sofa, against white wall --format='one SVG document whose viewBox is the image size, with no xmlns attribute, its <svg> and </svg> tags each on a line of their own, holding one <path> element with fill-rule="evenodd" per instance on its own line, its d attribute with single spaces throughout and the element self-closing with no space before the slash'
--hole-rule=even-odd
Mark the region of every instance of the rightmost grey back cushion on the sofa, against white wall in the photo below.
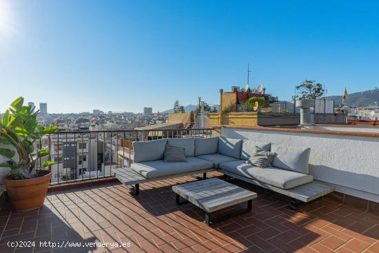
<svg viewBox="0 0 379 253">
<path fill-rule="evenodd" d="M 285 170 L 292 170 L 309 174 L 310 148 L 294 147 L 289 145 L 271 144 L 271 152 L 276 153 L 272 166 Z"/>
</svg>

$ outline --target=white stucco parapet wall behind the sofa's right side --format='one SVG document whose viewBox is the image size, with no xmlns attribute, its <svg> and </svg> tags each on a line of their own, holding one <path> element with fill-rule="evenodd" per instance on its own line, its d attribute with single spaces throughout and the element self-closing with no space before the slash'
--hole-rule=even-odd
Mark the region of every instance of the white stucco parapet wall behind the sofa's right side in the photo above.
<svg viewBox="0 0 379 253">
<path fill-rule="evenodd" d="M 379 138 L 222 128 L 234 139 L 311 148 L 309 173 L 337 191 L 379 202 Z"/>
</svg>

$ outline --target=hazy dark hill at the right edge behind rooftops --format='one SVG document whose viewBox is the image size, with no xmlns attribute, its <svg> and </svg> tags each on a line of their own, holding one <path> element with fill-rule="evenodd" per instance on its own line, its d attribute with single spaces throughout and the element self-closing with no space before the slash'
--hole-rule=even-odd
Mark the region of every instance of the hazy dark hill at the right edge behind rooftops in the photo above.
<svg viewBox="0 0 379 253">
<path fill-rule="evenodd" d="M 328 100 L 334 100 L 334 106 L 337 107 L 342 103 L 342 94 L 340 96 L 325 97 Z M 347 106 L 370 106 L 379 105 L 379 89 L 365 90 L 364 92 L 356 92 L 347 95 L 345 101 Z"/>
</svg>

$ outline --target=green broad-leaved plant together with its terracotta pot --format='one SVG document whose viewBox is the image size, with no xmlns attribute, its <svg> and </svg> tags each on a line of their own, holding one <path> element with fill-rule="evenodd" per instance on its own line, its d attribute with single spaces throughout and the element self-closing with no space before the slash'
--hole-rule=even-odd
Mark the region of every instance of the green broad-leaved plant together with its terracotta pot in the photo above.
<svg viewBox="0 0 379 253">
<path fill-rule="evenodd" d="M 6 110 L 3 119 L 0 117 L 0 167 L 8 168 L 9 174 L 3 178 L 3 184 L 12 206 L 23 212 L 34 210 L 45 200 L 51 179 L 52 161 L 44 161 L 37 168 L 37 159 L 42 161 L 50 151 L 41 148 L 35 152 L 34 143 L 44 134 L 56 132 L 56 126 L 44 128 L 38 124 L 34 107 L 23 105 L 23 97 L 19 97 Z M 5 159 L 5 161 L 4 161 Z"/>
</svg>

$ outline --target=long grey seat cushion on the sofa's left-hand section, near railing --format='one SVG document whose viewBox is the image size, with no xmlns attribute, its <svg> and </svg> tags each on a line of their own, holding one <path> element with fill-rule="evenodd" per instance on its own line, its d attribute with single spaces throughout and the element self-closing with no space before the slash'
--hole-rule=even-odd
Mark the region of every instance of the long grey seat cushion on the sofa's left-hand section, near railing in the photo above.
<svg viewBox="0 0 379 253">
<path fill-rule="evenodd" d="M 190 156 L 187 157 L 186 162 L 165 163 L 163 160 L 158 160 L 143 163 L 132 163 L 130 167 L 135 172 L 149 179 L 159 176 L 169 176 L 192 172 L 196 170 L 207 170 L 213 168 L 213 164 L 209 161 Z"/>
</svg>

